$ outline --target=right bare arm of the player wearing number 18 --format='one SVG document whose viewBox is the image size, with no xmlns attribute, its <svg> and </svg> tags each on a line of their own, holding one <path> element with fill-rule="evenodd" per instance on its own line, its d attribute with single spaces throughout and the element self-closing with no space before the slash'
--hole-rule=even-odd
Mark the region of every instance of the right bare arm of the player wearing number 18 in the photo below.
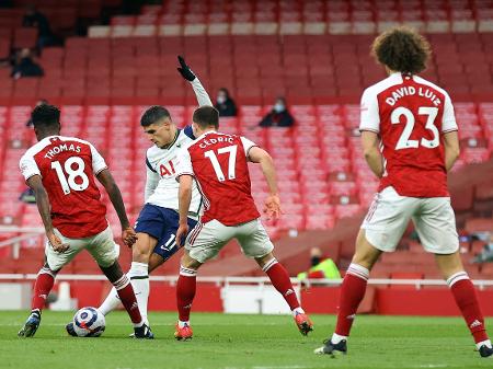
<svg viewBox="0 0 493 369">
<path fill-rule="evenodd" d="M 130 227 L 130 222 L 127 218 L 127 212 L 125 211 L 125 204 L 122 198 L 122 193 L 116 185 L 115 180 L 113 178 L 110 170 L 104 169 L 96 175 L 98 181 L 104 186 L 110 199 L 115 208 L 116 214 L 118 215 L 119 223 L 122 224 L 122 240 L 127 246 L 131 246 L 135 241 L 137 241 L 137 235 L 135 234 L 134 229 Z"/>
</svg>

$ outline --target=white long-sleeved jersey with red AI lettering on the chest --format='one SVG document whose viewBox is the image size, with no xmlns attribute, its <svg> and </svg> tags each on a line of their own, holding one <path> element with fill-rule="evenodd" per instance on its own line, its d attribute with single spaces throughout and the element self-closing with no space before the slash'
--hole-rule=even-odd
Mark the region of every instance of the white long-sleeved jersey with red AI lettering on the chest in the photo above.
<svg viewBox="0 0 493 369">
<path fill-rule="evenodd" d="M 181 148 L 194 140 L 192 127 L 179 129 L 175 140 L 165 149 L 153 146 L 147 150 L 147 182 L 145 200 L 162 208 L 179 211 L 179 187 L 176 181 L 176 155 Z M 192 187 L 190 217 L 196 218 L 202 211 L 202 196 L 195 181 Z"/>
</svg>

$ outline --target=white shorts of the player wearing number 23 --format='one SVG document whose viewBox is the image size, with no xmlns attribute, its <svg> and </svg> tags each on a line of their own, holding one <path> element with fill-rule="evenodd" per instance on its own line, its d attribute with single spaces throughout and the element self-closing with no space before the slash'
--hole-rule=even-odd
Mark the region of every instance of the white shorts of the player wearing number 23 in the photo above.
<svg viewBox="0 0 493 369">
<path fill-rule="evenodd" d="M 393 187 L 387 187 L 375 195 L 362 229 L 375 247 L 391 252 L 411 219 L 427 252 L 452 254 L 459 250 L 456 217 L 449 197 L 406 197 L 400 196 Z"/>
</svg>

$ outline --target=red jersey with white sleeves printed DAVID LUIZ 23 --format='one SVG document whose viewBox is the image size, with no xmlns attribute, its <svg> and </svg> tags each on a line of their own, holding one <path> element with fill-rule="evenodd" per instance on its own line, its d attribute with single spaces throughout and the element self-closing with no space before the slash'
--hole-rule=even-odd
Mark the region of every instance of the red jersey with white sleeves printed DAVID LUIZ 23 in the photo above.
<svg viewBox="0 0 493 369">
<path fill-rule="evenodd" d="M 447 92 L 417 76 L 393 73 L 366 89 L 360 130 L 380 135 L 385 174 L 379 191 L 446 197 L 444 134 L 457 130 Z"/>
</svg>

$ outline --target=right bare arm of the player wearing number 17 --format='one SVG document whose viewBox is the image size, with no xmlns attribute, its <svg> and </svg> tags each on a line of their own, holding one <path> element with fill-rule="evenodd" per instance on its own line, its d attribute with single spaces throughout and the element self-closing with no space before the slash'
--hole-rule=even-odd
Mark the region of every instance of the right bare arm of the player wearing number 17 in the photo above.
<svg viewBox="0 0 493 369">
<path fill-rule="evenodd" d="M 244 140 L 244 138 L 242 139 Z M 279 218 L 282 210 L 274 160 L 267 151 L 259 148 L 257 146 L 252 146 L 248 150 L 248 158 L 252 163 L 259 163 L 262 168 L 262 173 L 264 173 L 265 180 L 267 181 L 270 192 L 270 195 L 265 200 L 264 212 L 270 219 L 275 220 Z"/>
</svg>

